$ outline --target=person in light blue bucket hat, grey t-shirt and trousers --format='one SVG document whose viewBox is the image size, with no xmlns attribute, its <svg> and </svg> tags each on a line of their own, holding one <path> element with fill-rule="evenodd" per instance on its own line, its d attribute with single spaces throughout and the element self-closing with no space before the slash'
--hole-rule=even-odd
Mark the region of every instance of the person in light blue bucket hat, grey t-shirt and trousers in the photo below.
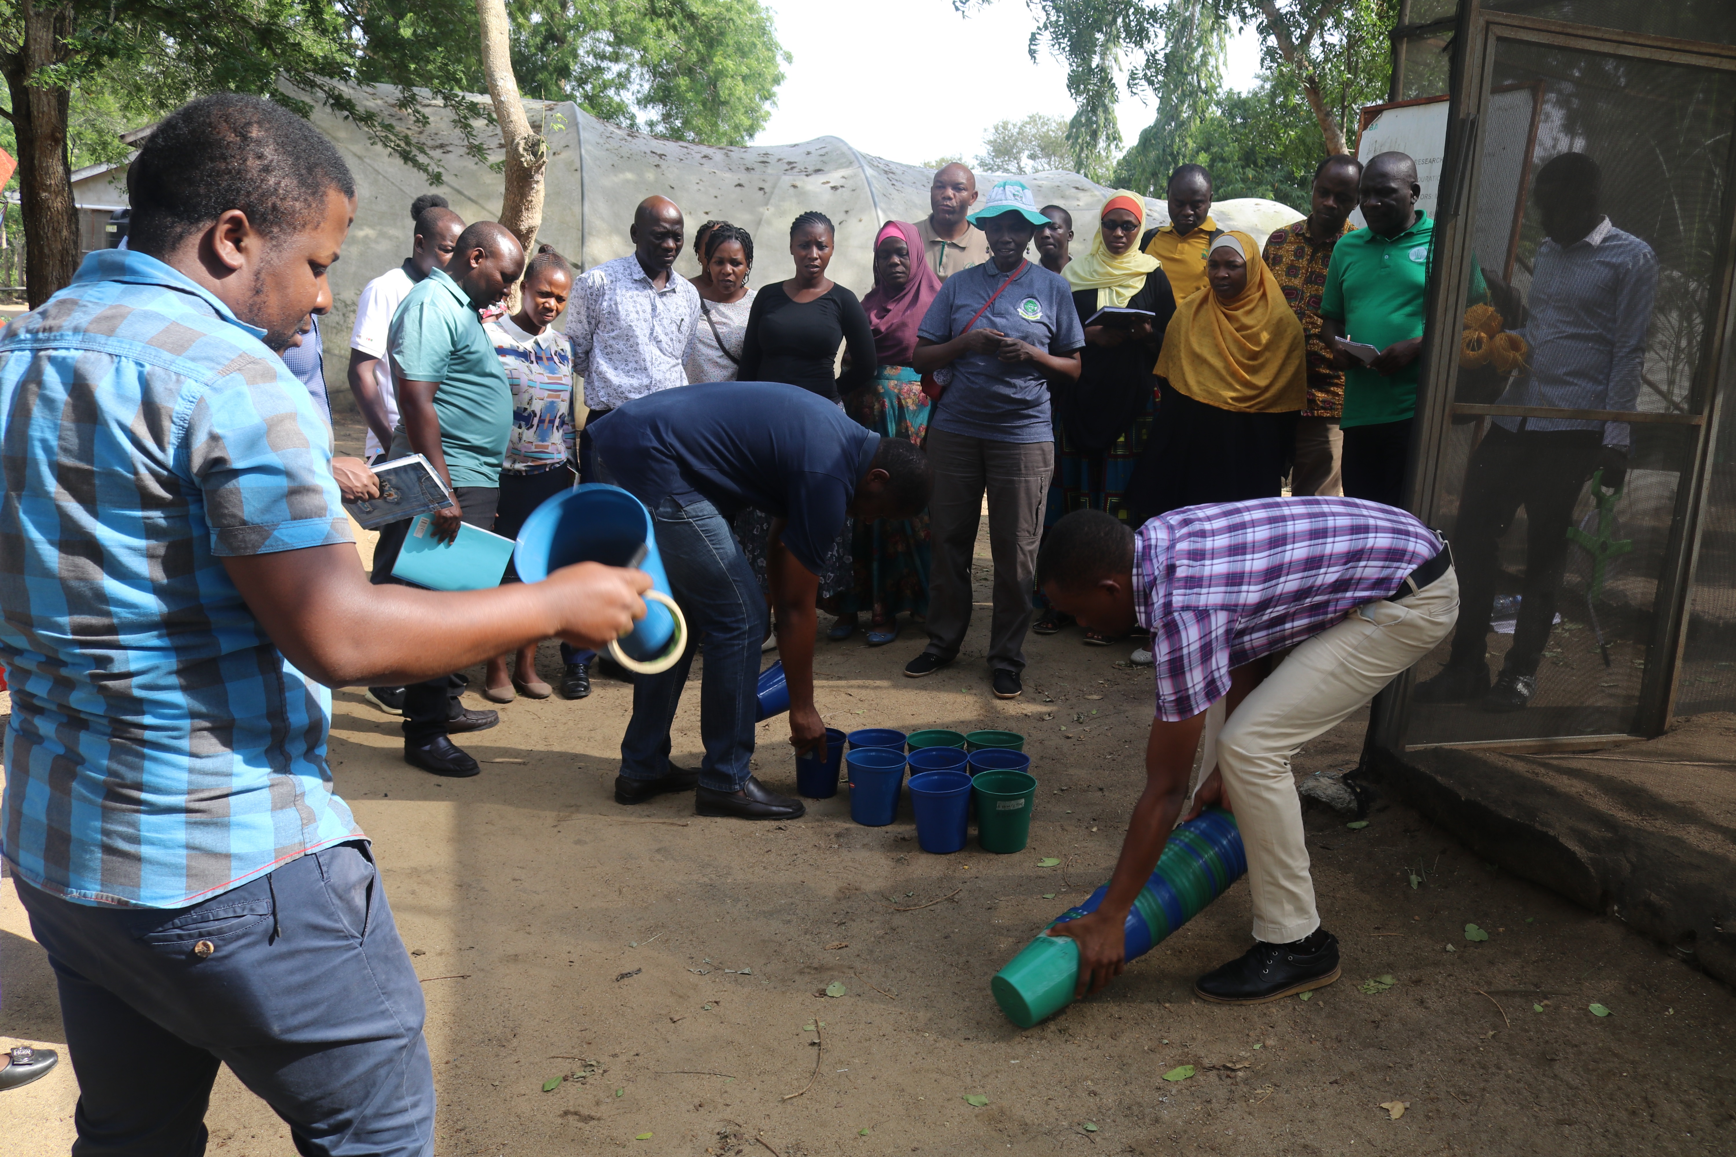
<svg viewBox="0 0 1736 1157">
<path fill-rule="evenodd" d="M 1085 333 L 1066 278 L 1024 258 L 1049 219 L 1023 180 L 1002 180 L 970 224 L 991 260 L 941 286 L 917 328 L 913 369 L 936 399 L 929 416 L 934 498 L 929 536 L 929 645 L 904 675 L 932 675 L 958 656 L 970 626 L 970 555 L 988 491 L 995 621 L 988 664 L 998 699 L 1024 687 L 1024 631 L 1054 472 L 1050 394 L 1080 375 Z"/>
</svg>

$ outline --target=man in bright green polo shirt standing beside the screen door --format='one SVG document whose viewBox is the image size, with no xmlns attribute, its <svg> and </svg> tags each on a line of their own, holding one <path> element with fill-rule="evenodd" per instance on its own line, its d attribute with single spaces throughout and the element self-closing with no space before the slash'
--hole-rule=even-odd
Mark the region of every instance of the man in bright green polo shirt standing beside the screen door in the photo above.
<svg viewBox="0 0 1736 1157">
<path fill-rule="evenodd" d="M 1319 304 L 1326 343 L 1344 369 L 1344 494 L 1389 507 L 1403 505 L 1434 253 L 1434 220 L 1417 210 L 1420 194 L 1417 161 L 1403 153 L 1382 153 L 1363 167 L 1368 229 L 1338 238 Z M 1470 298 L 1486 297 L 1472 264 Z M 1380 354 L 1364 364 L 1338 349 L 1338 338 Z"/>
</svg>

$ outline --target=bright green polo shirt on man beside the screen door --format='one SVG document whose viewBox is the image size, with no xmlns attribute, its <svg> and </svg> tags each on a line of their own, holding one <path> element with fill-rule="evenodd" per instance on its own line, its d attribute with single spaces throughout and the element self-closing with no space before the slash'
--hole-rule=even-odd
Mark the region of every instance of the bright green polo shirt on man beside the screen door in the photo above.
<svg viewBox="0 0 1736 1157">
<path fill-rule="evenodd" d="M 1344 323 L 1344 337 L 1385 349 L 1394 342 L 1420 338 L 1424 297 L 1429 284 L 1429 255 L 1434 220 L 1418 213 L 1415 226 L 1396 238 L 1358 229 L 1338 238 L 1326 271 L 1319 316 Z M 1472 300 L 1488 297 L 1483 274 L 1472 262 Z M 1417 380 L 1422 359 L 1387 376 L 1352 361 L 1344 371 L 1344 418 L 1340 427 L 1403 422 L 1417 413 Z"/>
</svg>

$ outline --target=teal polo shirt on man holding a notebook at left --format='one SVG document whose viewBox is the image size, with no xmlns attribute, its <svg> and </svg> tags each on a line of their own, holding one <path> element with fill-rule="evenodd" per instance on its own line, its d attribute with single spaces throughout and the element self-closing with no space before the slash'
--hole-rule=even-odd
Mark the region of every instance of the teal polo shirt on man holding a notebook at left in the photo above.
<svg viewBox="0 0 1736 1157">
<path fill-rule="evenodd" d="M 392 314 L 385 338 L 399 380 L 439 382 L 434 413 L 453 486 L 500 486 L 500 460 L 512 434 L 512 387 L 495 342 L 458 283 L 436 269 Z M 399 420 L 392 458 L 413 453 Z"/>
</svg>

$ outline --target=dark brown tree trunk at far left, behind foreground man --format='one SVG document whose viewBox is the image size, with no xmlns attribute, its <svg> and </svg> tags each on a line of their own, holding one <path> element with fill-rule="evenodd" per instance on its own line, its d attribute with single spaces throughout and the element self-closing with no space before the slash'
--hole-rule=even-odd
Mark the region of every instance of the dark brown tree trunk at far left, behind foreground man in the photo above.
<svg viewBox="0 0 1736 1157">
<path fill-rule="evenodd" d="M 12 95 L 17 134 L 19 208 L 24 215 L 24 286 L 36 309 L 78 272 L 78 210 L 73 170 L 66 163 L 66 123 L 71 94 L 40 88 L 31 75 L 64 59 L 73 29 L 69 3 L 43 7 L 21 0 L 19 42 L 0 43 L 0 69 Z"/>
</svg>

